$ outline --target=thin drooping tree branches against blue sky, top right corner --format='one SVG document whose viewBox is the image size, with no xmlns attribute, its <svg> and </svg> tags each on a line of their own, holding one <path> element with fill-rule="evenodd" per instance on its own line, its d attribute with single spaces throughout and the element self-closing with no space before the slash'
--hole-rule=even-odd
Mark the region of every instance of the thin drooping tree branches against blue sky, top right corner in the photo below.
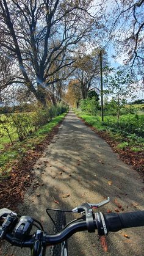
<svg viewBox="0 0 144 256">
<path fill-rule="evenodd" d="M 113 5 L 114 6 L 114 5 Z M 144 0 L 115 0 L 113 7 L 113 19 L 111 24 L 110 38 L 115 43 L 116 53 L 128 56 L 125 63 L 131 70 L 139 68 L 143 74 L 143 16 Z M 111 16 L 112 17 L 112 16 Z"/>
</svg>

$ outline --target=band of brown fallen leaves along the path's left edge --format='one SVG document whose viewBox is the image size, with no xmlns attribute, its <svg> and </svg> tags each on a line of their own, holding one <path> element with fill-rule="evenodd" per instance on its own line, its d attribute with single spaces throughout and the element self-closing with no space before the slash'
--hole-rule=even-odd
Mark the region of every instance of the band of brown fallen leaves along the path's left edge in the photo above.
<svg viewBox="0 0 144 256">
<path fill-rule="evenodd" d="M 34 150 L 27 150 L 22 159 L 16 159 L 13 163 L 7 164 L 5 169 L 11 169 L 9 177 L 3 172 L 0 181 L 0 208 L 8 207 L 15 210 L 18 203 L 24 198 L 24 191 L 31 186 L 34 180 L 34 164 L 43 153 L 43 150 L 51 142 L 54 135 L 59 131 L 60 122 L 55 126 L 45 139 L 35 146 Z M 32 172 L 33 169 L 33 172 Z M 37 167 L 40 169 L 40 167 Z M 38 186 L 38 185 L 37 185 Z M 37 187 L 35 186 L 35 188 Z M 9 193 L 9 191 L 12 191 Z"/>
</svg>

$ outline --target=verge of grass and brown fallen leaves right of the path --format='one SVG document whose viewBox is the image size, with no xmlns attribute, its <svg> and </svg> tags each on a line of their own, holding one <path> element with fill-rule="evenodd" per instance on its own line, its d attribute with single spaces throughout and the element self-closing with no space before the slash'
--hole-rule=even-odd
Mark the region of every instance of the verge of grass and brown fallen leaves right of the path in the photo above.
<svg viewBox="0 0 144 256">
<path fill-rule="evenodd" d="M 144 174 L 144 139 L 141 136 L 137 136 L 135 133 L 128 133 L 124 129 L 117 128 L 115 120 L 113 122 L 101 122 L 99 116 L 93 116 L 85 114 L 84 112 L 75 111 L 78 117 L 80 117 L 92 130 L 96 131 L 99 136 L 103 137 L 114 152 L 120 154 L 120 158 L 127 164 L 132 164 L 134 169 Z M 113 119 L 113 117 L 112 117 Z M 112 120 L 111 119 L 111 120 Z M 138 154 L 139 153 L 139 154 Z"/>
</svg>

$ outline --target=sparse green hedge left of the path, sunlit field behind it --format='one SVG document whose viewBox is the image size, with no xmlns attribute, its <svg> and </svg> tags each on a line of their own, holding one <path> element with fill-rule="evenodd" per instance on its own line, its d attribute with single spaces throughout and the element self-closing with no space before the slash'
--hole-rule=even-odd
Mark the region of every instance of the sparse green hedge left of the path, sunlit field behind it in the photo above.
<svg viewBox="0 0 144 256">
<path fill-rule="evenodd" d="M 4 144 L 18 138 L 23 141 L 38 128 L 50 122 L 56 115 L 68 111 L 68 106 L 59 103 L 57 106 L 49 108 L 37 108 L 34 112 L 14 113 L 1 115 L 0 119 L 0 136 L 2 137 L 1 148 Z M 2 123 L 3 122 L 3 123 Z M 9 139 L 8 139 L 9 137 Z"/>
</svg>

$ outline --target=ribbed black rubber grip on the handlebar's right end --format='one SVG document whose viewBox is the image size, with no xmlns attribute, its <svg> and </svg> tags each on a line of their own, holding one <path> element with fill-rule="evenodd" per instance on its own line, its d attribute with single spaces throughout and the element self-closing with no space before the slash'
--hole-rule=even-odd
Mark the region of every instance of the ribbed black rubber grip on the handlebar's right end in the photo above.
<svg viewBox="0 0 144 256">
<path fill-rule="evenodd" d="M 128 227 L 144 226 L 144 211 L 131 213 L 109 213 L 104 214 L 107 231 L 116 232 Z"/>
</svg>

